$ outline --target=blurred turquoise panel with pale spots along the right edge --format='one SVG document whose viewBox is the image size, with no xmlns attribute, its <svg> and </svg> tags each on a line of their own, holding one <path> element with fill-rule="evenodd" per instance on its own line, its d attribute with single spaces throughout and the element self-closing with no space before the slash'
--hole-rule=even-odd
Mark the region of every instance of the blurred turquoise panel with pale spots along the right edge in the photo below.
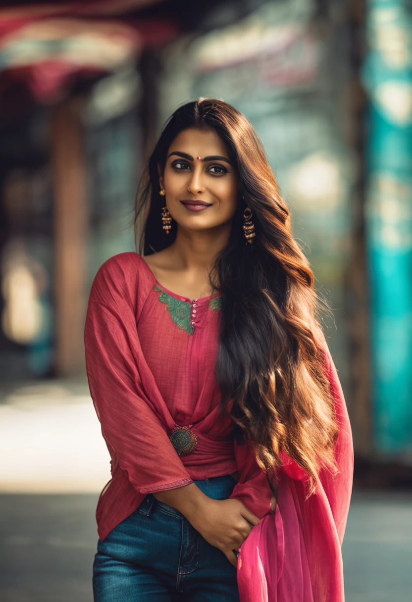
<svg viewBox="0 0 412 602">
<path fill-rule="evenodd" d="M 367 8 L 373 440 L 377 453 L 400 456 L 412 445 L 412 8 Z"/>
</svg>

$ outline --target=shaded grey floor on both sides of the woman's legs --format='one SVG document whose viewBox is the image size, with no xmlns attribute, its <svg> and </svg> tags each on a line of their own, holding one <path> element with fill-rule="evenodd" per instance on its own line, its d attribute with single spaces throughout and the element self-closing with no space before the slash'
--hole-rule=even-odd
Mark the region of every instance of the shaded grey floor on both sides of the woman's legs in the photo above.
<svg viewBox="0 0 412 602">
<path fill-rule="evenodd" d="M 92 602 L 97 494 L 0 495 L 1 602 Z M 412 494 L 354 492 L 346 602 L 410 602 Z"/>
</svg>

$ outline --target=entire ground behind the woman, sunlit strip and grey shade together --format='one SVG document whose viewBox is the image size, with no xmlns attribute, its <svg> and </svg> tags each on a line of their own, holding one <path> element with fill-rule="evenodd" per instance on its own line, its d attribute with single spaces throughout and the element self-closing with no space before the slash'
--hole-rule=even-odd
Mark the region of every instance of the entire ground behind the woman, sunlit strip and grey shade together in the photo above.
<svg viewBox="0 0 412 602">
<path fill-rule="evenodd" d="M 92 602 L 109 457 L 87 383 L 0 391 L 0 602 Z M 412 492 L 354 491 L 346 602 L 412 599 Z"/>
</svg>

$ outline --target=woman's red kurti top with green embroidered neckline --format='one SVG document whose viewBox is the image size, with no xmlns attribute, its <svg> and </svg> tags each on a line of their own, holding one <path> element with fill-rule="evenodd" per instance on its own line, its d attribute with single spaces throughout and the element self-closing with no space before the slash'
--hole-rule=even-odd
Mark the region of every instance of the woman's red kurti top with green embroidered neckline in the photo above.
<svg viewBox="0 0 412 602">
<path fill-rule="evenodd" d="M 99 269 L 89 297 L 84 343 L 90 394 L 111 456 L 112 478 L 96 510 L 104 539 L 149 492 L 237 471 L 230 497 L 259 518 L 272 491 L 252 453 L 239 463 L 233 421 L 220 417 L 214 376 L 220 296 L 190 300 L 157 282 L 137 253 Z M 179 456 L 169 433 L 190 426 L 198 437 Z M 245 456 L 244 450 L 240 450 Z"/>
</svg>

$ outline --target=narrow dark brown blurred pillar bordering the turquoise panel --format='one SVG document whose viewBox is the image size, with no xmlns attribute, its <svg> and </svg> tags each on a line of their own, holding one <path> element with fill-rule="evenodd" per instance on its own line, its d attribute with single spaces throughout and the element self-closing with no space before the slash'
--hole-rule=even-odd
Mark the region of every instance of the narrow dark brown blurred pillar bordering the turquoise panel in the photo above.
<svg viewBox="0 0 412 602">
<path fill-rule="evenodd" d="M 351 195 L 353 242 L 348 270 L 346 311 L 349 326 L 349 361 L 351 391 L 346 399 L 349 409 L 355 453 L 369 458 L 372 455 L 372 415 L 370 408 L 370 332 L 369 278 L 365 241 L 365 120 L 367 96 L 360 82 L 364 61 L 365 7 L 351 0 L 348 5 L 351 51 L 351 112 L 348 140 L 355 151 L 357 169 Z"/>
</svg>

